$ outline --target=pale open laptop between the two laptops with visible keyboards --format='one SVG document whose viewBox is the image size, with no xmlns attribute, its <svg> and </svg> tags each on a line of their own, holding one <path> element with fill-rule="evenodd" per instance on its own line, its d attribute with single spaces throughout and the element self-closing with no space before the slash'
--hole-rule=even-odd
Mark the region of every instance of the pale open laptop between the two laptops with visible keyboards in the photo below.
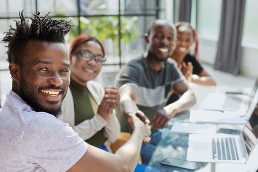
<svg viewBox="0 0 258 172">
<path fill-rule="evenodd" d="M 243 111 L 212 111 L 192 110 L 189 122 L 195 123 L 217 123 L 217 124 L 246 124 L 258 104 L 258 91 L 250 96 L 251 102 L 247 112 Z"/>
</svg>

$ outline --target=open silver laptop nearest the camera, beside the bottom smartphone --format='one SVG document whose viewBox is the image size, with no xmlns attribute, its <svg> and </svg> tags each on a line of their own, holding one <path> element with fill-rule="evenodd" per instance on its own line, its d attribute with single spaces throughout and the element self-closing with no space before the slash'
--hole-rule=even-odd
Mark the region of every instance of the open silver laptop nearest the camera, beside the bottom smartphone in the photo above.
<svg viewBox="0 0 258 172">
<path fill-rule="evenodd" d="M 257 143 L 258 139 L 247 128 L 247 123 L 240 135 L 190 134 L 186 159 L 197 162 L 246 163 Z"/>
</svg>

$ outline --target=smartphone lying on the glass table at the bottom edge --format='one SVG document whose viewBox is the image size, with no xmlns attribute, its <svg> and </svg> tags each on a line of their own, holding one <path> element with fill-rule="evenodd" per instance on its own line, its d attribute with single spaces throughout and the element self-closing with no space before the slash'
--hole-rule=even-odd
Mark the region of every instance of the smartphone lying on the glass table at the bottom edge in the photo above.
<svg viewBox="0 0 258 172">
<path fill-rule="evenodd" d="M 191 161 L 186 161 L 182 159 L 177 159 L 173 157 L 167 157 L 164 160 L 160 162 L 160 164 L 167 165 L 167 166 L 172 166 L 172 167 L 178 167 L 178 168 L 183 168 L 183 169 L 188 169 L 188 170 L 197 170 L 201 167 L 200 163 L 197 162 L 191 162 Z"/>
</svg>

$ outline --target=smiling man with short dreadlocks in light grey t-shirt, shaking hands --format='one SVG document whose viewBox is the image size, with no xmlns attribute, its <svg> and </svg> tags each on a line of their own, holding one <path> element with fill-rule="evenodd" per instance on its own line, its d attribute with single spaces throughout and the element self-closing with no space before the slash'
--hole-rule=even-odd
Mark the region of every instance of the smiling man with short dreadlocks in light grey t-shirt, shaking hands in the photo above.
<svg viewBox="0 0 258 172">
<path fill-rule="evenodd" d="M 70 79 L 64 35 L 69 22 L 20 13 L 6 32 L 12 90 L 0 111 L 0 170 L 40 172 L 133 171 L 150 135 L 141 112 L 131 115 L 131 139 L 115 154 L 91 146 L 57 119 Z M 138 117 L 137 117 L 138 116 Z M 146 139 L 144 139 L 146 141 Z"/>
</svg>

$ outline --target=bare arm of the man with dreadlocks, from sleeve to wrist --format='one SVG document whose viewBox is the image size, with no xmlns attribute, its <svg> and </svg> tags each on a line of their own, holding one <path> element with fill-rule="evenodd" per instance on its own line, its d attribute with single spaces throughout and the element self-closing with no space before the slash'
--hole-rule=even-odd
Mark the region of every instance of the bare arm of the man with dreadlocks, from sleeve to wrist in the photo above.
<svg viewBox="0 0 258 172">
<path fill-rule="evenodd" d="M 115 154 L 88 145 L 86 153 L 68 172 L 133 172 L 144 138 L 141 129 L 135 129 L 129 141 Z"/>
</svg>

